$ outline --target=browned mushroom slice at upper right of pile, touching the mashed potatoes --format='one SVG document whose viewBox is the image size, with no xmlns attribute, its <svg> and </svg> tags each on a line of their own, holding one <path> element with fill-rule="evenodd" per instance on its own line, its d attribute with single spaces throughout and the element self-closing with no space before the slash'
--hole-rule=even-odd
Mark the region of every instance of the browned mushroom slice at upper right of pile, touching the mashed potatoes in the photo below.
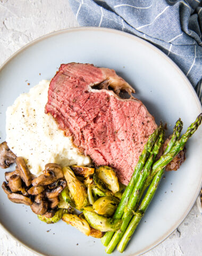
<svg viewBox="0 0 202 256">
<path fill-rule="evenodd" d="M 49 185 L 58 179 L 64 177 L 62 168 L 58 164 L 46 164 L 44 174 L 39 175 L 37 178 L 32 180 L 33 186 Z"/>
</svg>

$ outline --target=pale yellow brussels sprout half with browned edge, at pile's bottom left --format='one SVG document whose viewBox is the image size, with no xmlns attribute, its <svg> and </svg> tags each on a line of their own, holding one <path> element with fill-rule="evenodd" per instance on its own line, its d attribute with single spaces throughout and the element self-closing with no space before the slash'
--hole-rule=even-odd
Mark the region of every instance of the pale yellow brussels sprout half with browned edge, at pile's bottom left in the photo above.
<svg viewBox="0 0 202 256">
<path fill-rule="evenodd" d="M 90 226 L 85 219 L 79 218 L 75 214 L 65 213 L 62 217 L 62 220 L 72 225 L 73 227 L 79 229 L 79 231 L 81 231 L 83 234 L 87 236 L 90 235 Z"/>
</svg>

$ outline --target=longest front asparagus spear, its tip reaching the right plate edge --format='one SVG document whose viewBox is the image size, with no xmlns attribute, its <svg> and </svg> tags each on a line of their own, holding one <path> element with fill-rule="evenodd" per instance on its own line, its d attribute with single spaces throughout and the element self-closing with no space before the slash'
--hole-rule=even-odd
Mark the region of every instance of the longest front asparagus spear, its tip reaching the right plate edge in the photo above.
<svg viewBox="0 0 202 256">
<path fill-rule="evenodd" d="M 198 126 L 200 125 L 202 120 L 202 113 L 197 117 L 196 121 L 193 122 L 187 129 L 187 132 L 184 133 L 181 137 L 181 139 L 179 139 L 178 141 L 175 142 L 175 145 L 173 146 L 173 148 L 171 148 L 172 153 L 175 151 L 180 151 L 183 149 L 185 143 L 187 142 L 187 140 L 191 137 L 191 135 L 198 129 Z M 176 126 L 175 126 L 176 127 Z M 171 155 L 170 153 L 168 153 L 169 155 Z M 172 154 L 174 155 L 174 154 Z M 166 158 L 167 159 L 167 158 Z M 125 247 L 127 246 L 128 242 L 130 241 L 130 238 L 132 237 L 134 230 L 136 230 L 136 227 L 138 226 L 138 223 L 140 222 L 141 218 L 144 216 L 147 207 L 149 205 L 149 203 L 152 201 L 152 198 L 154 197 L 154 194 L 158 188 L 159 182 L 161 181 L 162 175 L 164 173 L 164 167 L 165 167 L 165 161 L 161 160 L 161 158 L 159 159 L 160 161 L 156 162 L 157 169 L 154 169 L 154 173 L 156 172 L 156 170 L 158 170 L 155 174 L 154 174 L 154 179 L 152 180 L 152 183 L 150 184 L 147 193 L 144 197 L 144 199 L 142 200 L 140 206 L 138 207 L 138 210 L 136 213 L 134 213 L 133 218 L 131 219 L 129 226 L 127 228 L 127 230 L 125 231 L 120 243 L 117 246 L 117 250 L 119 252 L 123 252 Z M 162 164 L 162 168 L 161 167 L 161 163 Z M 154 166 L 153 165 L 153 166 Z"/>
</svg>

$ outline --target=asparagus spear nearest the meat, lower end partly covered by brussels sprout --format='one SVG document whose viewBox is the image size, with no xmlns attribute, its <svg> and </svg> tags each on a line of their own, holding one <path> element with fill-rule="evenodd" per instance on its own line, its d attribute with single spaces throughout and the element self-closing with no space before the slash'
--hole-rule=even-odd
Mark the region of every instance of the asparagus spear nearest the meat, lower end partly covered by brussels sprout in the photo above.
<svg viewBox="0 0 202 256">
<path fill-rule="evenodd" d="M 142 170 L 143 166 L 145 165 L 145 162 L 147 161 L 147 158 L 149 157 L 149 155 L 152 151 L 152 148 L 153 148 L 154 143 L 157 139 L 157 136 L 158 136 L 158 129 L 156 129 L 154 131 L 154 133 L 152 133 L 149 136 L 148 141 L 145 144 L 144 149 L 143 149 L 143 151 L 142 151 L 142 153 L 139 157 L 139 161 L 138 161 L 136 167 L 134 168 L 134 172 L 132 174 L 131 180 L 130 180 L 128 186 L 125 188 L 125 191 L 124 191 L 124 193 L 121 197 L 121 201 L 120 201 L 119 205 L 116 208 L 116 211 L 115 211 L 114 216 L 113 216 L 114 219 L 121 219 L 122 218 L 122 215 L 123 215 L 123 212 L 124 212 L 124 209 L 125 209 L 125 205 L 128 204 L 129 197 L 132 193 L 134 185 L 137 182 L 139 173 Z M 101 238 L 101 242 L 103 243 L 104 246 L 107 246 L 108 243 L 110 243 L 111 238 L 112 238 L 113 235 L 114 235 L 113 231 L 108 231 L 108 232 L 105 233 L 105 235 Z"/>
</svg>

